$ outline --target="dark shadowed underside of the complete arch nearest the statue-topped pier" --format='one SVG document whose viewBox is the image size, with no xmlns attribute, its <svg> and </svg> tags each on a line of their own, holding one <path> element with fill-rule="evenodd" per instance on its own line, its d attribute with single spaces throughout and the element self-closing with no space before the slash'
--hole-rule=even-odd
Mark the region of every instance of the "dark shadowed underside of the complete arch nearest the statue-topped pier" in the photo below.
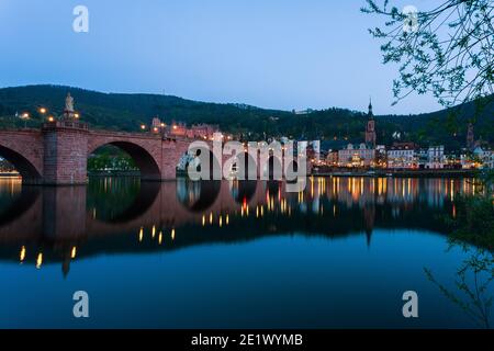
<svg viewBox="0 0 494 351">
<path fill-rule="evenodd" d="M 102 139 L 89 143 L 88 157 L 105 145 L 115 146 L 128 154 L 139 169 L 142 180 L 161 179 L 161 170 L 159 167 L 159 161 L 157 160 L 158 156 L 153 155 L 156 152 L 153 148 L 145 145 L 139 145 L 133 140 Z"/>
</svg>

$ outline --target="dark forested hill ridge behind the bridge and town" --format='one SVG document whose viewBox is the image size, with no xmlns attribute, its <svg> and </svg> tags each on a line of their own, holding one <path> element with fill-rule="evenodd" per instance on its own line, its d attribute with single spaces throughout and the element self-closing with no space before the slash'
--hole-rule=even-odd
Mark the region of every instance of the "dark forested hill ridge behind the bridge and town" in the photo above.
<svg viewBox="0 0 494 351">
<path fill-rule="evenodd" d="M 246 104 L 218 104 L 198 102 L 171 95 L 101 93 L 60 86 L 27 86 L 0 89 L 0 127 L 21 126 L 16 112 L 30 112 L 30 125 L 40 124 L 38 106 L 59 115 L 70 91 L 76 109 L 83 121 L 93 127 L 138 131 L 153 116 L 166 122 L 182 121 L 188 124 L 210 123 L 222 131 L 243 134 L 246 138 L 263 139 L 266 136 L 323 139 L 327 147 L 349 141 L 360 141 L 367 115 L 346 109 L 327 109 L 308 114 L 265 110 Z M 492 100 L 492 99 L 491 99 Z M 402 139 L 422 145 L 444 144 L 460 148 L 465 144 L 467 124 L 475 122 L 475 135 L 494 144 L 494 103 L 487 104 L 476 115 L 475 104 L 468 103 L 449 110 L 419 115 L 377 116 L 378 143 L 391 144 L 394 132 Z M 250 133 L 250 135 L 249 135 Z"/>
</svg>

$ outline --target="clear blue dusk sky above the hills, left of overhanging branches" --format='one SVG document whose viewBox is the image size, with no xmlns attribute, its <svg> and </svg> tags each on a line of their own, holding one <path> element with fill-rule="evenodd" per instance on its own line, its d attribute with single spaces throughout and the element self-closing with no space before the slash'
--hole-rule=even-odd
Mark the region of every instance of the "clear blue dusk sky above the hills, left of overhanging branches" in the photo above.
<svg viewBox="0 0 494 351">
<path fill-rule="evenodd" d="M 89 9 L 89 33 L 72 31 L 78 4 Z M 363 4 L 0 0 L 0 87 L 57 83 L 282 110 L 363 111 L 372 95 L 378 114 L 439 110 L 424 95 L 391 106 L 397 68 L 381 64 L 367 29 L 383 19 L 360 13 Z"/>
</svg>

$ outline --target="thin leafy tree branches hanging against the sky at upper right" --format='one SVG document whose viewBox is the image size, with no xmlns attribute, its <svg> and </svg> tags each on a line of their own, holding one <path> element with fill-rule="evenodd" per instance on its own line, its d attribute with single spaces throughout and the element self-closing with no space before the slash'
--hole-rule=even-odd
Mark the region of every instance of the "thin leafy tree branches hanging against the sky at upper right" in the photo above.
<svg viewBox="0 0 494 351">
<path fill-rule="evenodd" d="M 442 0 L 426 11 L 398 10 L 389 2 L 367 0 L 361 11 L 385 18 L 383 27 L 369 32 L 384 41 L 384 64 L 400 66 L 393 82 L 394 104 L 413 91 L 431 92 L 445 106 L 492 101 L 493 0 Z"/>
</svg>

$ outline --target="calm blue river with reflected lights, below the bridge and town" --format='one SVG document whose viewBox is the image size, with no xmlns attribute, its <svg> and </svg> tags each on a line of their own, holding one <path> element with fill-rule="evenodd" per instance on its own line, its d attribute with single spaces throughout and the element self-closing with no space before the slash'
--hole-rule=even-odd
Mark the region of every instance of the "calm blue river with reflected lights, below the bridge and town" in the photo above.
<svg viewBox="0 0 494 351">
<path fill-rule="evenodd" d="M 2 179 L 0 327 L 485 327 L 456 286 L 475 248 L 451 247 L 445 225 L 474 191 L 463 179 L 313 178 L 301 193 L 261 181 Z M 74 317 L 76 291 L 89 318 Z M 418 318 L 403 316 L 406 291 Z"/>
</svg>

